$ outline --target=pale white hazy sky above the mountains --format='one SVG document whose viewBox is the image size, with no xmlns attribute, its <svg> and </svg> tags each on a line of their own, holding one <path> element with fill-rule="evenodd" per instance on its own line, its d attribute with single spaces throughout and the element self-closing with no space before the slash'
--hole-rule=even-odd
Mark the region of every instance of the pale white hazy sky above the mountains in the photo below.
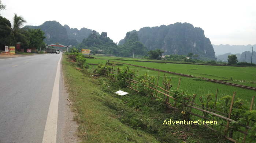
<svg viewBox="0 0 256 143">
<path fill-rule="evenodd" d="M 70 28 L 108 32 L 114 42 L 127 31 L 187 22 L 201 27 L 212 44 L 256 44 L 256 0 L 2 0 L 1 15 L 25 25 L 56 20 Z"/>
</svg>

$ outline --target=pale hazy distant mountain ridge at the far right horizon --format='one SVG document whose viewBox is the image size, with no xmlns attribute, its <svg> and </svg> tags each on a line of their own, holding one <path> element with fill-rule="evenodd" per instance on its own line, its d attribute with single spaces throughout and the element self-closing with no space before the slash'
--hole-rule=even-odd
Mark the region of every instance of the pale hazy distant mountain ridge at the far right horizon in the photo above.
<svg viewBox="0 0 256 143">
<path fill-rule="evenodd" d="M 256 44 L 255 45 L 229 45 L 229 44 L 226 44 L 226 45 L 223 45 L 223 44 L 220 44 L 220 45 L 214 45 L 212 44 L 213 48 L 214 48 L 214 51 L 215 51 L 215 55 L 218 56 L 218 55 L 223 55 L 225 53 L 242 53 L 244 51 L 251 51 L 252 50 L 252 47 L 256 47 Z"/>
</svg>

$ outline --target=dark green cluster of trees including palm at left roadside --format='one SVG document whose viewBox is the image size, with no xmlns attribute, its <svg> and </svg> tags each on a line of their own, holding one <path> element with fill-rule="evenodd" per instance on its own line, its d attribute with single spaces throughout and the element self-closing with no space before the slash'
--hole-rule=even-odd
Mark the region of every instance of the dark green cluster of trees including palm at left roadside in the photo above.
<svg viewBox="0 0 256 143">
<path fill-rule="evenodd" d="M 0 0 L 0 11 L 5 9 L 5 5 Z M 41 29 L 21 28 L 26 20 L 22 16 L 14 13 L 13 25 L 5 17 L 0 15 L 0 47 L 4 50 L 4 46 L 15 46 L 21 44 L 21 48 L 40 48 L 44 47 L 44 32 Z"/>
</svg>

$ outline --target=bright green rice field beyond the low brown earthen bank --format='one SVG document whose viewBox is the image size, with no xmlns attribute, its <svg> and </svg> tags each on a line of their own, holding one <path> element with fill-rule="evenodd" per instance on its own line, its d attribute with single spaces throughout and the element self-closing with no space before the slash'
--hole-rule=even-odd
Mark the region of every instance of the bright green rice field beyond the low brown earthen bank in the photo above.
<svg viewBox="0 0 256 143">
<path fill-rule="evenodd" d="M 255 68 L 252 67 L 148 63 L 139 61 L 119 62 L 256 87 Z"/>
</svg>

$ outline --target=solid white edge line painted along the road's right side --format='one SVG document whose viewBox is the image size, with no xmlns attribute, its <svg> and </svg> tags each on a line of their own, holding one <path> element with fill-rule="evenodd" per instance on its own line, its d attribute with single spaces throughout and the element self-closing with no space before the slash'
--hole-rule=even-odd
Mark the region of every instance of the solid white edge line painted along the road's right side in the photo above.
<svg viewBox="0 0 256 143">
<path fill-rule="evenodd" d="M 52 90 L 52 98 L 48 110 L 47 120 L 45 123 L 44 136 L 42 143 L 56 143 L 57 140 L 57 121 L 58 121 L 58 105 L 59 105 L 59 83 L 60 83 L 60 56 L 55 81 Z"/>
</svg>

